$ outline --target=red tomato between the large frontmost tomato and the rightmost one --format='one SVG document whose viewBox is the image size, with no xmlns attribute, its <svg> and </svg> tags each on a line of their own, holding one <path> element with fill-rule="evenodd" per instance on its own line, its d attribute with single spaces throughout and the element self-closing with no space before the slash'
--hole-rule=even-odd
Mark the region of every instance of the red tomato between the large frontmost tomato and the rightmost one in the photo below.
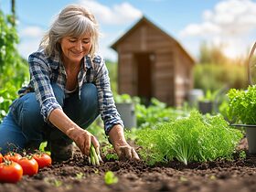
<svg viewBox="0 0 256 192">
<path fill-rule="evenodd" d="M 34 176 L 38 172 L 37 161 L 32 156 L 22 157 L 17 163 L 22 166 L 23 175 Z"/>
</svg>

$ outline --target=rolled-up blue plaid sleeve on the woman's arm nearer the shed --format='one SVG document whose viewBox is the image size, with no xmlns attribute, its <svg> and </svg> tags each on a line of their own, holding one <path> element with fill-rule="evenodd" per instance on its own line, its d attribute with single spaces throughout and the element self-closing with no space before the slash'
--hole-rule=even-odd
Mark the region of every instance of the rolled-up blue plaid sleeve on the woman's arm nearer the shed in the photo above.
<svg viewBox="0 0 256 192">
<path fill-rule="evenodd" d="M 104 123 L 105 133 L 108 134 L 113 125 L 121 124 L 123 126 L 123 121 L 114 104 L 108 69 L 104 60 L 97 57 L 93 59 L 93 62 L 97 66 L 96 87 L 98 89 L 101 119 Z"/>
</svg>

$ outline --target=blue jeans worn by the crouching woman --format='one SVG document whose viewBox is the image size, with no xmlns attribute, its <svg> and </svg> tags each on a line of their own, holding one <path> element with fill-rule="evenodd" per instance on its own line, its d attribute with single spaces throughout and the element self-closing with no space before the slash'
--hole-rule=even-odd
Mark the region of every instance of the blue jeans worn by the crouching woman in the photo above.
<svg viewBox="0 0 256 192">
<path fill-rule="evenodd" d="M 99 116 L 97 88 L 94 84 L 83 85 L 80 99 L 78 91 L 66 97 L 57 84 L 52 84 L 52 88 L 63 111 L 80 127 L 87 128 Z M 59 138 L 70 140 L 58 128 L 44 122 L 35 92 L 29 92 L 16 99 L 0 124 L 2 154 L 30 145 L 39 147 L 43 141 Z"/>
</svg>

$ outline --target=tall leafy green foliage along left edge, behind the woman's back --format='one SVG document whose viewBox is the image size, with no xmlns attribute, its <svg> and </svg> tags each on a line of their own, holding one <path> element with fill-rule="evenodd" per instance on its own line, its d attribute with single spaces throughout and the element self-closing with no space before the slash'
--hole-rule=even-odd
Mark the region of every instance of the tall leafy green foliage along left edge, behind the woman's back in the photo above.
<svg viewBox="0 0 256 192">
<path fill-rule="evenodd" d="M 0 10 L 0 121 L 16 99 L 16 91 L 28 80 L 27 62 L 16 50 L 18 37 L 10 18 Z"/>
</svg>

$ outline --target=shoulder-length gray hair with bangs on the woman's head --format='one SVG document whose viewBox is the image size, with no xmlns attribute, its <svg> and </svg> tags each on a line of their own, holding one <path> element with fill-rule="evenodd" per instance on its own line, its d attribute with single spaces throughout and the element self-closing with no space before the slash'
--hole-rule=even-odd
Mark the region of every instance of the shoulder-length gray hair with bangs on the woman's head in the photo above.
<svg viewBox="0 0 256 192">
<path fill-rule="evenodd" d="M 81 5 L 68 5 L 57 16 L 46 35 L 42 38 L 39 48 L 43 48 L 48 57 L 61 53 L 60 40 L 63 37 L 91 36 L 91 50 L 93 57 L 98 48 L 99 30 L 95 17 Z M 59 55 L 60 57 L 60 55 Z"/>
</svg>

